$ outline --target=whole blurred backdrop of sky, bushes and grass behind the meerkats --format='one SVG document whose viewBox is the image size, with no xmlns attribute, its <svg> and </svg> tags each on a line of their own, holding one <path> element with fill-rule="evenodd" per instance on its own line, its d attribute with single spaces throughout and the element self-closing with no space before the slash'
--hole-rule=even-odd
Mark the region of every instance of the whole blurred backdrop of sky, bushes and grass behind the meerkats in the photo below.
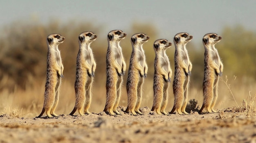
<svg viewBox="0 0 256 143">
<path fill-rule="evenodd" d="M 41 112 L 46 79 L 46 37 L 50 33 L 66 37 L 65 42 L 59 46 L 64 78 L 56 113 L 69 114 L 75 103 L 78 35 L 83 31 L 92 31 L 98 35 L 97 40 L 91 44 L 97 69 L 90 112 L 101 112 L 106 102 L 107 34 L 115 29 L 127 33 L 121 42 L 126 71 L 132 51 L 130 37 L 134 33 L 150 36 L 150 40 L 144 44 L 148 78 L 143 85 L 141 107 L 151 108 L 153 104 L 153 42 L 162 38 L 173 42 L 174 35 L 180 32 L 193 35 L 193 40 L 186 46 L 193 64 L 189 99 L 198 100 L 199 106 L 202 106 L 202 37 L 206 33 L 217 33 L 222 36 L 216 48 L 224 64 L 224 73 L 219 82 L 216 108 L 240 106 L 243 99 L 256 93 L 255 5 L 254 0 L 2 1 L 0 114 L 16 109 L 22 117 L 35 117 Z M 174 45 L 167 50 L 173 73 L 174 51 Z M 127 75 L 124 77 L 120 106 L 127 106 L 126 80 Z M 168 91 L 166 111 L 173 107 L 172 83 Z"/>
</svg>

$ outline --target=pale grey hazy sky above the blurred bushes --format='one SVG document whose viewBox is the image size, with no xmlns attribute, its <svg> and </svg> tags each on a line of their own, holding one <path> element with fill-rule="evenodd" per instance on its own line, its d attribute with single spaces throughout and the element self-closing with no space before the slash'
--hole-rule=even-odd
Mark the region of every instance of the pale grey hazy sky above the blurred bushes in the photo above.
<svg viewBox="0 0 256 143">
<path fill-rule="evenodd" d="M 131 35 L 126 29 L 136 20 L 152 23 L 159 38 L 169 41 L 187 32 L 201 42 L 206 33 L 220 34 L 224 26 L 238 24 L 256 31 L 256 0 L 2 0 L 0 13 L 0 28 L 15 20 L 33 22 L 31 17 L 43 23 L 90 20 L 106 25 L 99 36 L 114 29 Z"/>
</svg>

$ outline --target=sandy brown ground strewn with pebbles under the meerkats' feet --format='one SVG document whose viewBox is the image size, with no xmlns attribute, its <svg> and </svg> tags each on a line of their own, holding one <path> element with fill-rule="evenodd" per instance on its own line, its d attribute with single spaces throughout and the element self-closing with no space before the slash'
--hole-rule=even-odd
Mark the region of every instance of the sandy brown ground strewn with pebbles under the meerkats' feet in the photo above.
<svg viewBox="0 0 256 143">
<path fill-rule="evenodd" d="M 255 143 L 256 118 L 231 110 L 214 114 L 109 116 L 105 112 L 58 118 L 0 116 L 1 143 Z M 236 116 L 235 116 L 236 115 Z"/>
</svg>

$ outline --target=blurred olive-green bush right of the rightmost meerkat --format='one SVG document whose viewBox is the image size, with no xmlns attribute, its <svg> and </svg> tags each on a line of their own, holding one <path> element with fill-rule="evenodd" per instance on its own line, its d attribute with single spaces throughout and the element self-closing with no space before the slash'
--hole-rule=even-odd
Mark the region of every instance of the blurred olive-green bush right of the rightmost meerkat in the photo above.
<svg viewBox="0 0 256 143">
<path fill-rule="evenodd" d="M 226 26 L 217 48 L 224 64 L 225 75 L 236 75 L 240 79 L 255 81 L 256 33 L 243 26 Z"/>
</svg>

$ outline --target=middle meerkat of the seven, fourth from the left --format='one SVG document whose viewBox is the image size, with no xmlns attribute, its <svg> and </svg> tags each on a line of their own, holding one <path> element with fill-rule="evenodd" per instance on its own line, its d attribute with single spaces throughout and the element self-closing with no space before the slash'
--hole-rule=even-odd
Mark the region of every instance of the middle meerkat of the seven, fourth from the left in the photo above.
<svg viewBox="0 0 256 143">
<path fill-rule="evenodd" d="M 148 40 L 149 36 L 146 36 L 144 33 L 136 33 L 131 38 L 132 54 L 126 83 L 128 105 L 125 112 L 131 112 L 134 116 L 137 116 L 137 113 L 142 115 L 142 112 L 139 111 L 142 94 L 141 86 L 148 73 L 148 65 L 146 64 L 146 57 L 142 46 Z"/>
</svg>

